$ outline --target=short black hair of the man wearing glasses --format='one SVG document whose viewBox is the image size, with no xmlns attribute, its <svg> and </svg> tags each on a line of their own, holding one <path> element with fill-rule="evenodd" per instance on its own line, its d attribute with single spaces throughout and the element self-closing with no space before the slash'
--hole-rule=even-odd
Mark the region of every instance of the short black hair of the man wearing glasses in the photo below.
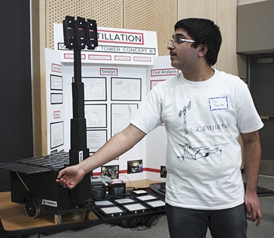
<svg viewBox="0 0 274 238">
<path fill-rule="evenodd" d="M 203 18 L 186 18 L 175 24 L 175 31 L 178 28 L 184 29 L 196 43 L 192 46 L 197 48 L 199 44 L 206 44 L 208 52 L 205 55 L 208 65 L 213 66 L 218 57 L 222 37 L 220 29 L 213 21 Z"/>
</svg>

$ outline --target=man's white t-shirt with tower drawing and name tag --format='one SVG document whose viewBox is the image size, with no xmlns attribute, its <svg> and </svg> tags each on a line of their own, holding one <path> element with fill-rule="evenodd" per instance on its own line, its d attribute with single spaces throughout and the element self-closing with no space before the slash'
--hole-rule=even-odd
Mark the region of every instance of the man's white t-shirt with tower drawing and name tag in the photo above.
<svg viewBox="0 0 274 238">
<path fill-rule="evenodd" d="M 175 207 L 227 209 L 244 202 L 238 135 L 263 123 L 247 85 L 214 71 L 206 81 L 188 81 L 181 72 L 158 83 L 130 120 L 145 133 L 164 122 L 166 202 Z"/>
</svg>

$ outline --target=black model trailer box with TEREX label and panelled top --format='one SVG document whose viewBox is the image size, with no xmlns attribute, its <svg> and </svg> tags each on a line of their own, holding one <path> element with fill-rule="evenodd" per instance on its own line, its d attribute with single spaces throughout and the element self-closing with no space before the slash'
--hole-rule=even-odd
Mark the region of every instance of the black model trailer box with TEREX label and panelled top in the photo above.
<svg viewBox="0 0 274 238">
<path fill-rule="evenodd" d="M 39 215 L 40 209 L 59 215 L 77 210 L 79 206 L 90 207 L 89 201 L 72 200 L 73 189 L 56 182 L 58 172 L 66 166 L 69 166 L 69 153 L 65 152 L 0 164 L 0 168 L 10 170 L 12 202 L 25 204 L 25 211 L 32 218 Z M 85 191 L 88 197 L 89 189 Z"/>
</svg>

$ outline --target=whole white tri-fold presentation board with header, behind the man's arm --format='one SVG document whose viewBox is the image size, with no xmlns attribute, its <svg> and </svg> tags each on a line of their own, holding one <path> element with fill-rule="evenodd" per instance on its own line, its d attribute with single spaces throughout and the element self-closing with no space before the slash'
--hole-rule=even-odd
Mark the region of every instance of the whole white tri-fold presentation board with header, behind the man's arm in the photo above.
<svg viewBox="0 0 274 238">
<path fill-rule="evenodd" d="M 84 49 L 81 53 L 90 155 L 127 127 L 157 83 L 178 72 L 171 67 L 168 56 L 158 56 L 154 31 L 98 27 L 98 43 L 95 50 Z M 64 48 L 62 24 L 54 25 L 54 45 L 54 50 L 45 49 L 49 154 L 69 152 L 71 144 L 73 51 Z M 119 168 L 119 178 L 124 181 L 146 178 L 164 181 L 160 172 L 165 166 L 165 155 L 163 124 L 105 166 L 109 170 Z M 102 168 L 94 170 L 93 176 L 100 176 L 101 171 Z"/>
</svg>

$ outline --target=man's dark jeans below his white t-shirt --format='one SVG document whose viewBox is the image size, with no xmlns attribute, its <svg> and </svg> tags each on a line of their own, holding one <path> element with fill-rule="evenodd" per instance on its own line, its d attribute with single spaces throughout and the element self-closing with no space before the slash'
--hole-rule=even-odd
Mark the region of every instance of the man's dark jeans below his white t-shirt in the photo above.
<svg viewBox="0 0 274 238">
<path fill-rule="evenodd" d="M 246 238 L 245 204 L 223 210 L 195 210 L 166 204 L 171 238 L 204 238 L 208 228 L 213 238 Z"/>
</svg>

